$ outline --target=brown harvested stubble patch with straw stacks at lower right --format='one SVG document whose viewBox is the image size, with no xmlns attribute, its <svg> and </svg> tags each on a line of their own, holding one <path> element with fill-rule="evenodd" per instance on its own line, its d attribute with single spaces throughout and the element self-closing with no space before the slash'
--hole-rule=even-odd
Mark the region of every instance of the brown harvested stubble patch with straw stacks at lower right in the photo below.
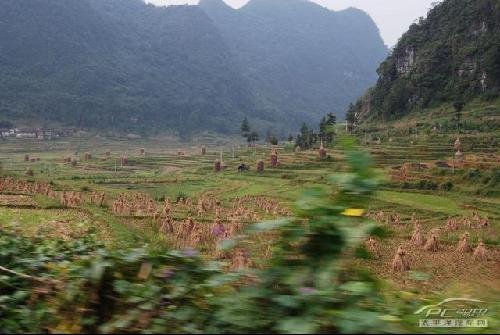
<svg viewBox="0 0 500 335">
<path fill-rule="evenodd" d="M 381 211 L 371 212 L 368 216 L 382 222 L 385 218 Z M 439 233 L 450 231 L 450 227 L 452 232 L 469 227 L 486 228 L 490 226 L 487 217 L 473 213 L 470 217 L 449 218 L 443 227 L 431 229 L 427 238 L 424 238 L 423 227 L 414 215 L 412 221 L 417 224 L 407 238 L 393 237 L 379 243 L 372 239 L 365 241 L 368 250 L 376 248 L 378 257 L 355 262 L 368 266 L 378 276 L 390 278 L 401 285 L 411 281 L 407 275 L 401 275 L 402 271 L 407 271 L 405 269 L 427 273 L 430 275 L 429 280 L 413 283 L 422 287 L 428 285 L 429 289 L 449 285 L 450 281 L 493 283 L 498 280 L 499 248 L 488 247 L 482 240 L 472 245 L 469 233 L 463 233 L 457 244 L 439 239 Z"/>
</svg>

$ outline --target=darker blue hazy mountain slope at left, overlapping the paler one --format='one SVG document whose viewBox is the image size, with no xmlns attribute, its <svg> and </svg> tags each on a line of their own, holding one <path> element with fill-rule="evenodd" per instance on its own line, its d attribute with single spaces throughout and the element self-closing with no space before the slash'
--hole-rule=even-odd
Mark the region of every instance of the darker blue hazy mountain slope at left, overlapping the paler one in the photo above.
<svg viewBox="0 0 500 335">
<path fill-rule="evenodd" d="M 228 132 L 253 98 L 196 6 L 2 0 L 2 118 Z"/>
</svg>

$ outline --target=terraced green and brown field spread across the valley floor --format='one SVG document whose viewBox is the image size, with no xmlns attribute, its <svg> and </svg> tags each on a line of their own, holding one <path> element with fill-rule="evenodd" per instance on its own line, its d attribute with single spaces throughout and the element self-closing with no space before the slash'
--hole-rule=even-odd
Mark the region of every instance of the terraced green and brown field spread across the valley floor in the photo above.
<svg viewBox="0 0 500 335">
<path fill-rule="evenodd" d="M 498 114 L 487 107 L 477 113 L 497 120 L 495 115 Z M 432 118 L 428 122 L 431 124 L 435 120 Z M 388 290 L 397 291 L 403 287 L 428 294 L 451 294 L 462 289 L 467 295 L 497 297 L 498 301 L 500 155 L 498 147 L 492 144 L 498 141 L 498 132 L 470 132 L 461 136 L 465 159 L 454 162 L 451 154 L 454 134 L 434 134 L 422 123 L 421 129 L 426 130 L 408 136 L 404 125 L 411 123 L 407 120 L 389 128 L 371 128 L 369 135 L 360 136 L 377 169 L 384 175 L 382 187 L 370 199 L 367 211 L 382 210 L 386 216 L 398 214 L 401 224 L 380 222 L 386 233 L 385 237 L 378 238 L 376 255 L 359 257 L 355 265 L 368 268 L 387 280 Z M 242 222 L 249 225 L 289 215 L 295 200 L 305 189 L 325 185 L 328 175 L 345 169 L 342 154 L 336 148 L 329 149 L 328 159 L 320 160 L 315 150 L 294 152 L 290 145 L 281 145 L 278 147 L 280 165 L 271 168 L 270 146 L 248 148 L 237 143 L 238 140 L 213 137 L 185 144 L 170 137 L 109 139 L 90 134 L 62 140 L 3 140 L 0 142 L 0 162 L 4 177 L 48 182 L 57 194 L 80 192 L 83 203 L 68 208 L 57 198 L 49 199 L 21 190 L 3 192 L 0 194 L 0 225 L 11 227 L 23 236 L 71 240 L 92 235 L 112 248 L 148 244 L 164 251 L 175 247 L 175 243 L 160 232 L 158 223 L 150 216 L 113 213 L 112 204 L 120 194 L 146 194 L 158 207 L 165 198 L 170 198 L 176 222 L 194 216 L 195 220 L 207 225 L 212 225 L 215 213 L 207 212 L 197 217 L 198 199 L 218 199 L 223 213 L 243 203 L 243 207 L 254 214 L 253 218 Z M 202 145 L 207 148 L 205 155 L 201 154 Z M 144 155 L 140 153 L 141 148 L 145 149 Z M 110 153 L 106 154 L 107 151 Z M 92 158 L 85 160 L 85 153 L 90 153 Z M 26 161 L 25 155 L 32 161 Z M 214 161 L 221 156 L 225 168 L 215 172 Z M 65 157 L 72 157 L 77 164 L 65 163 Z M 127 165 L 121 164 L 122 157 L 127 157 Z M 260 159 L 266 163 L 263 173 L 256 172 Z M 437 161 L 447 162 L 450 167 L 438 167 Z M 239 173 L 237 168 L 241 163 L 249 164 L 251 170 Z M 419 163 L 425 167 L 411 165 L 403 174 L 401 166 L 404 163 Z M 33 171 L 33 176 L 25 175 L 28 169 Z M 105 193 L 103 206 L 90 204 L 92 192 Z M 262 203 L 256 200 L 259 197 L 276 203 L 279 211 L 264 211 Z M 175 205 L 179 198 L 192 199 L 193 205 Z M 449 217 L 470 217 L 474 212 L 488 217 L 490 225 L 484 229 L 461 226 L 453 232 L 443 229 Z M 429 253 L 410 244 L 414 213 L 425 232 L 442 229 L 439 252 Z M 228 222 L 229 215 L 223 215 L 223 221 Z M 460 235 L 466 231 L 474 246 L 479 239 L 484 240 L 490 261 L 475 262 L 471 255 L 455 251 Z M 268 257 L 266 253 L 272 238 L 270 235 L 268 239 L 253 241 L 250 251 L 256 266 Z M 391 270 L 391 261 L 399 245 L 405 245 L 408 250 L 412 271 L 407 274 Z M 212 247 L 204 245 L 200 249 L 210 258 Z M 417 276 L 419 273 L 426 275 Z"/>
</svg>

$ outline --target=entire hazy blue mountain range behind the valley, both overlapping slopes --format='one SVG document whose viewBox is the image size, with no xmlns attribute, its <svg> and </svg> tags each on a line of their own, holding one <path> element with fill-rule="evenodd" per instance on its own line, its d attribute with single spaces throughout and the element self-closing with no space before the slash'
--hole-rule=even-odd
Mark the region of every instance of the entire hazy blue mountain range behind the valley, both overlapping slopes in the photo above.
<svg viewBox="0 0 500 335">
<path fill-rule="evenodd" d="M 362 12 L 300 0 L 1 0 L 0 120 L 228 133 L 248 116 L 285 131 L 342 111 L 385 52 Z"/>
</svg>

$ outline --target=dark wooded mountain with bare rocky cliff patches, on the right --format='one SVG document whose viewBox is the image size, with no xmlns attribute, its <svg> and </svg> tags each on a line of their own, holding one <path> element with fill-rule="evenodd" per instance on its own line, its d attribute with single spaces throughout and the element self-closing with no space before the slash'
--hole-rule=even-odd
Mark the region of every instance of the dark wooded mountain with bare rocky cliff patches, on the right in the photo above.
<svg viewBox="0 0 500 335">
<path fill-rule="evenodd" d="M 348 119 L 391 120 L 500 91 L 500 0 L 444 0 L 413 24 Z"/>
</svg>

